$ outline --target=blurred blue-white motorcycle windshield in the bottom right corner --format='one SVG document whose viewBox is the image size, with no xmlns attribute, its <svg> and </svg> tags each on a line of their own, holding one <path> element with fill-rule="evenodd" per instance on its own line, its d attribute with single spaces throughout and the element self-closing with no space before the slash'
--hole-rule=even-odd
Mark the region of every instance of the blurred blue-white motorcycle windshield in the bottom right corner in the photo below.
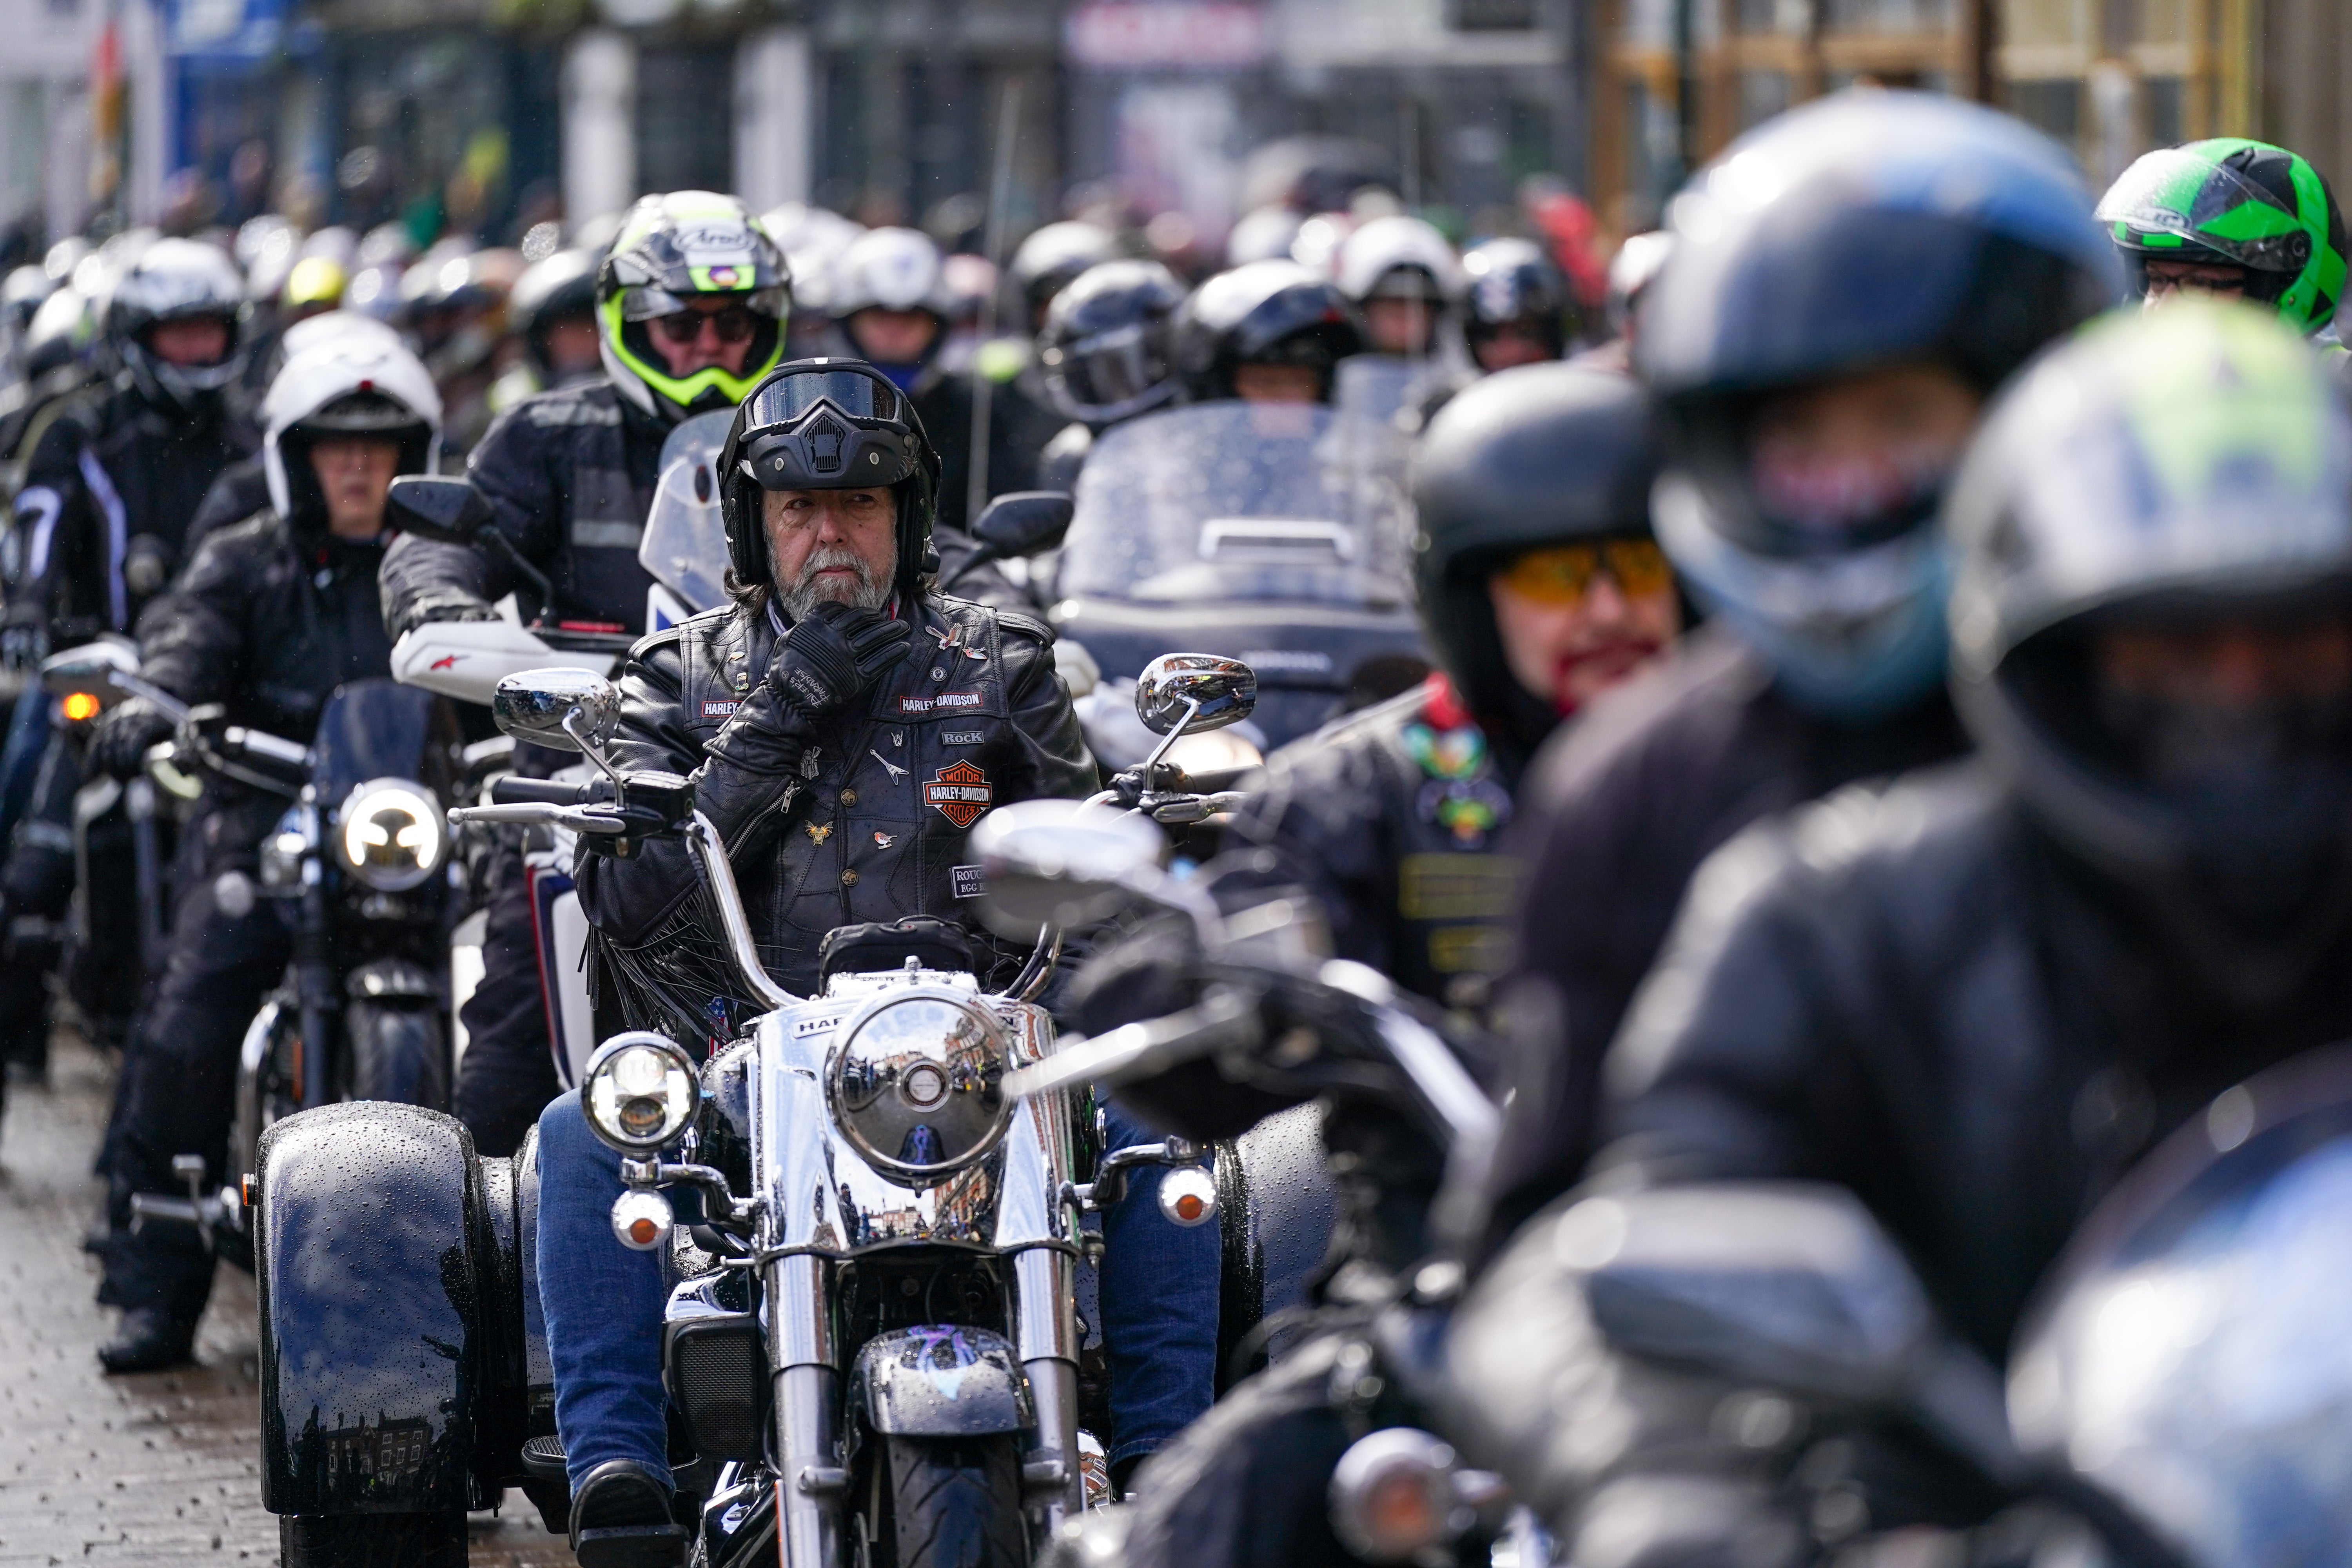
<svg viewBox="0 0 2352 1568">
<path fill-rule="evenodd" d="M 2011 1361 L 2018 1439 L 2201 1568 L 2352 1540 L 2352 1048 L 2230 1093 L 2077 1237 Z"/>
</svg>

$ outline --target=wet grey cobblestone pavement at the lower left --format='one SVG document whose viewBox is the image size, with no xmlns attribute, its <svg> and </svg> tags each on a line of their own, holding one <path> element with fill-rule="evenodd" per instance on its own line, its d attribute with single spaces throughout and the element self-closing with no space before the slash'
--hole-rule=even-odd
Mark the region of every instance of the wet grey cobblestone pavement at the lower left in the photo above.
<svg viewBox="0 0 2352 1568">
<path fill-rule="evenodd" d="M 198 1366 L 106 1378 L 113 1314 L 80 1251 L 113 1074 L 59 1037 L 47 1088 L 9 1086 L 0 1124 L 0 1568 L 21 1563 L 275 1563 L 261 1509 L 254 1281 L 223 1267 Z M 475 1516 L 473 1561 L 569 1566 L 562 1537 L 508 1493 Z"/>
</svg>

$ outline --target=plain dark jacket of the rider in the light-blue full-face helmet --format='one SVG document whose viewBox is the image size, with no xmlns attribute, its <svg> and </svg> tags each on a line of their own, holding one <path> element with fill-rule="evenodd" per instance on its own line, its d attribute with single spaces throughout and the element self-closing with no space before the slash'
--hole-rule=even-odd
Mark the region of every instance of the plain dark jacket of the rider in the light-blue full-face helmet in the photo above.
<svg viewBox="0 0 2352 1568">
<path fill-rule="evenodd" d="M 1489 1241 L 1583 1173 L 1602 1053 L 1700 860 L 1759 818 L 1966 750 L 1943 689 L 1891 717 L 1837 724 L 1792 705 L 1755 654 L 1712 628 L 1545 745 L 1505 835 L 1524 882 L 1517 957 L 1498 987 L 1512 1093 Z"/>
</svg>

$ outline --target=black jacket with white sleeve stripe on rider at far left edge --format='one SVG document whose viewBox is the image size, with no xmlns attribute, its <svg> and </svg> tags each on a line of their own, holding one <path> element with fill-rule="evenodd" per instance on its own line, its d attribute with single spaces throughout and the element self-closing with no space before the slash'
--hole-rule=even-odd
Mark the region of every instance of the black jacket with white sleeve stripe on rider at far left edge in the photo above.
<svg viewBox="0 0 2352 1568">
<path fill-rule="evenodd" d="M 78 395 L 16 491 L 9 628 L 52 649 L 132 630 L 181 569 L 205 491 L 254 447 L 226 411 L 162 409 L 129 386 Z"/>
</svg>

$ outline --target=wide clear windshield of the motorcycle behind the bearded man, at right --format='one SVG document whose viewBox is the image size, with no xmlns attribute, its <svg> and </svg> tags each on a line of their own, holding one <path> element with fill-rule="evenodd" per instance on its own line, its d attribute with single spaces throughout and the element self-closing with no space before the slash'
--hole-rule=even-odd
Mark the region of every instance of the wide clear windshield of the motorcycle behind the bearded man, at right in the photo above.
<svg viewBox="0 0 2352 1568">
<path fill-rule="evenodd" d="M 1207 402 L 1108 430 L 1077 477 L 1063 595 L 1409 602 L 1388 425 L 1319 404 Z"/>
</svg>

